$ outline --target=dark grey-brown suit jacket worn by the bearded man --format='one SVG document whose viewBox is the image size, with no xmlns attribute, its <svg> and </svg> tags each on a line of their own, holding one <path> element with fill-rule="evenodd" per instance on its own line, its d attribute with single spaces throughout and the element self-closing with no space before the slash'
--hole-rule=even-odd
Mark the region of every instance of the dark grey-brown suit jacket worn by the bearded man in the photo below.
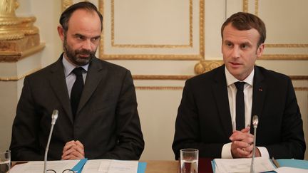
<svg viewBox="0 0 308 173">
<path fill-rule="evenodd" d="M 26 76 L 13 125 L 12 160 L 43 160 L 55 109 L 48 159 L 61 159 L 71 140 L 81 141 L 88 159 L 140 158 L 144 141 L 129 70 L 93 58 L 75 120 L 62 58 Z"/>
</svg>

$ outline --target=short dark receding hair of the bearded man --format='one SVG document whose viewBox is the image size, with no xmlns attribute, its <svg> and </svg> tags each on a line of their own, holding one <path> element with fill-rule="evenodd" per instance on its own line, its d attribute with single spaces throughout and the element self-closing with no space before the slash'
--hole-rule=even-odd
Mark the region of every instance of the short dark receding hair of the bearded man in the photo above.
<svg viewBox="0 0 308 173">
<path fill-rule="evenodd" d="M 73 4 L 72 6 L 69 6 L 61 14 L 59 22 L 60 22 L 62 28 L 64 29 L 64 31 L 68 31 L 68 20 L 71 18 L 71 14 L 73 14 L 73 12 L 78 10 L 78 9 L 85 9 L 87 11 L 93 11 L 93 12 L 95 11 L 96 14 L 98 14 L 98 16 L 101 20 L 101 31 L 103 30 L 103 16 L 100 13 L 100 11 L 98 11 L 96 6 L 94 4 L 92 4 L 91 2 L 82 1 L 82 2 L 78 2 L 76 4 Z"/>
</svg>

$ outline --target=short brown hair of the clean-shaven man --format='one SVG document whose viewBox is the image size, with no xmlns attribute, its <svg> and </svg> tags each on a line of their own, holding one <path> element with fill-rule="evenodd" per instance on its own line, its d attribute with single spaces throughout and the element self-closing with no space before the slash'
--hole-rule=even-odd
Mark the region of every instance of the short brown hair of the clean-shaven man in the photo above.
<svg viewBox="0 0 308 173">
<path fill-rule="evenodd" d="M 265 23 L 258 16 L 245 12 L 238 12 L 236 14 L 232 14 L 232 16 L 230 16 L 225 21 L 225 23 L 222 24 L 221 36 L 223 30 L 225 29 L 225 26 L 227 26 L 229 23 L 231 23 L 233 27 L 237 28 L 240 31 L 250 30 L 251 28 L 255 28 L 260 34 L 258 46 L 260 46 L 260 44 L 265 42 L 266 38 Z"/>
</svg>

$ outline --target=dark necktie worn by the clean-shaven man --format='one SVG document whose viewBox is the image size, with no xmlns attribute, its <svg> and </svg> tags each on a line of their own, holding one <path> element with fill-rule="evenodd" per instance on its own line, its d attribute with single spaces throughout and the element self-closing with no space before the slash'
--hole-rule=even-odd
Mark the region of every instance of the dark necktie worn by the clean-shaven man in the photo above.
<svg viewBox="0 0 308 173">
<path fill-rule="evenodd" d="M 236 130 L 245 128 L 245 103 L 244 103 L 244 84 L 245 82 L 236 82 Z"/>
</svg>

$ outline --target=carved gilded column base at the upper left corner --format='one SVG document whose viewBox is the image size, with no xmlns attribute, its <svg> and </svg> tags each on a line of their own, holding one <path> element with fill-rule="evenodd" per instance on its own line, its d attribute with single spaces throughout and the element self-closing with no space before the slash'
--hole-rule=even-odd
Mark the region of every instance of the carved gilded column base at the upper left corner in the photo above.
<svg viewBox="0 0 308 173">
<path fill-rule="evenodd" d="M 0 0 L 0 61 L 18 61 L 44 47 L 34 26 L 36 17 L 17 17 L 18 6 L 16 0 Z"/>
</svg>

